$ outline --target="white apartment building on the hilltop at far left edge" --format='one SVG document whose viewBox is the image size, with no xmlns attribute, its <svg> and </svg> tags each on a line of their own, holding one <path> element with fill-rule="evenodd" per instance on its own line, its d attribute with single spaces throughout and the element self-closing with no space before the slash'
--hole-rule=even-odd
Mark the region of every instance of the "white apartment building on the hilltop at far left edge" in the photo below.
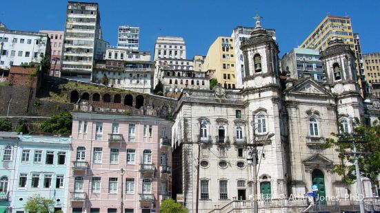
<svg viewBox="0 0 380 213">
<path fill-rule="evenodd" d="M 45 33 L 0 30 L 0 45 L 1 69 L 40 63 L 45 56 L 50 60 L 50 40 Z"/>
</svg>

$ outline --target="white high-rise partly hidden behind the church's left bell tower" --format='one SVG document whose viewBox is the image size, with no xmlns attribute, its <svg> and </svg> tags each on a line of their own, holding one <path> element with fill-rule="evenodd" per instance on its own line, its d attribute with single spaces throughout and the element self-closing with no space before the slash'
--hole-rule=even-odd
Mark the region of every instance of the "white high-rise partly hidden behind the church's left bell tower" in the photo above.
<svg viewBox="0 0 380 213">
<path fill-rule="evenodd" d="M 236 69 L 236 83 L 237 88 L 243 86 L 243 77 L 244 77 L 244 58 L 243 52 L 241 52 L 240 45 L 241 42 L 250 38 L 250 35 L 254 27 L 242 27 L 237 26 L 232 31 L 231 37 L 234 38 L 234 52 L 235 52 L 235 69 Z M 276 41 L 276 30 L 266 29 L 268 36 L 272 36 L 273 40 Z"/>
</svg>

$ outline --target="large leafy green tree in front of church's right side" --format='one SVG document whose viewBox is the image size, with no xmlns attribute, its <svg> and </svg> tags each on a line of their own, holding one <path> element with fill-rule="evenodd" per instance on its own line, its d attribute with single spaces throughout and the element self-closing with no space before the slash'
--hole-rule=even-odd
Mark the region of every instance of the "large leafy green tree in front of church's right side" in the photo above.
<svg viewBox="0 0 380 213">
<path fill-rule="evenodd" d="M 378 118 L 378 120 L 380 117 Z M 356 120 L 356 125 L 351 134 L 343 133 L 343 126 L 340 125 L 342 134 L 332 133 L 334 138 L 326 139 L 325 148 L 335 148 L 340 153 L 340 164 L 334 165 L 332 172 L 342 176 L 342 180 L 352 184 L 356 180 L 354 157 L 352 155 L 342 155 L 343 153 L 353 152 L 352 143 L 344 141 L 366 141 L 366 143 L 357 143 L 357 153 L 370 153 L 370 155 L 361 155 L 359 157 L 359 169 L 361 177 L 367 177 L 372 182 L 372 186 L 377 184 L 377 178 L 380 173 L 380 125 L 376 120 L 372 125 L 360 124 Z"/>
</svg>

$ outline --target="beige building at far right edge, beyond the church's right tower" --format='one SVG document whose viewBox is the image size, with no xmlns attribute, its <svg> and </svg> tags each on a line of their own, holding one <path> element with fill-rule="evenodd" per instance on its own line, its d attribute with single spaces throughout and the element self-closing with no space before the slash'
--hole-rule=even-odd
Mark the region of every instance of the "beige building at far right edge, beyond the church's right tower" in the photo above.
<svg viewBox="0 0 380 213">
<path fill-rule="evenodd" d="M 380 98 L 380 52 L 363 55 L 364 74 L 372 96 Z"/>
</svg>

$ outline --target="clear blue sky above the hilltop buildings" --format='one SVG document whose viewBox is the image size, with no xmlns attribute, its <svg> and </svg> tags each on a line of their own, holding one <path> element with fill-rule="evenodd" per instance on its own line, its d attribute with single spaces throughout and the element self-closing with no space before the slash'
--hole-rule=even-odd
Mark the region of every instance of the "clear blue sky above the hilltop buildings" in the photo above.
<svg viewBox="0 0 380 213">
<path fill-rule="evenodd" d="M 141 29 L 140 49 L 153 52 L 157 36 L 183 36 L 187 58 L 206 55 L 217 36 L 230 36 L 237 25 L 254 26 L 256 11 L 263 27 L 277 31 L 280 55 L 301 44 L 327 15 L 352 19 L 352 29 L 361 36 L 363 54 L 380 52 L 380 1 L 336 0 L 100 0 L 103 39 L 117 43 L 118 25 Z M 11 30 L 63 30 L 67 1 L 3 0 L 0 21 Z"/>
</svg>

